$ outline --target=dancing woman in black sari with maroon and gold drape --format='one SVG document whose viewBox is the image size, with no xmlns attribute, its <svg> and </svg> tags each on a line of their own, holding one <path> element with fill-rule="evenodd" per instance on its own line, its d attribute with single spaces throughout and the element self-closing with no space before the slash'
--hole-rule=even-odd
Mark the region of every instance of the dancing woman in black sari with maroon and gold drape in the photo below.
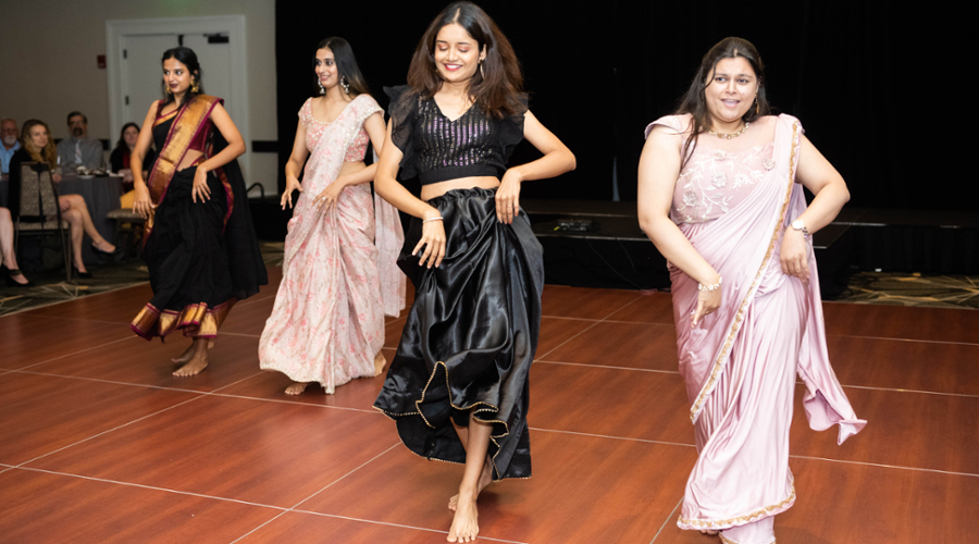
<svg viewBox="0 0 979 544">
<path fill-rule="evenodd" d="M 232 306 L 269 280 L 235 161 L 245 143 L 223 100 L 201 94 L 194 51 L 163 53 L 163 85 L 166 98 L 150 106 L 129 159 L 153 288 L 131 326 L 146 339 L 176 330 L 193 338 L 174 359 L 182 363 L 174 375 L 187 376 L 208 366 L 210 341 Z M 151 141 L 159 156 L 144 181 Z"/>
</svg>

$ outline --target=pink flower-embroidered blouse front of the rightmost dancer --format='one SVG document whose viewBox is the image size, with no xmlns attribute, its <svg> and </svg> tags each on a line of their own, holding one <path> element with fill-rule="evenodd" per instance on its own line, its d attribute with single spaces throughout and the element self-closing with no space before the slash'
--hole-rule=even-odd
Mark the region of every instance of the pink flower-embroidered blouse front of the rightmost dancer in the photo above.
<svg viewBox="0 0 979 544">
<path fill-rule="evenodd" d="M 751 194 L 774 166 L 774 143 L 740 152 L 708 147 L 701 137 L 673 188 L 670 218 L 674 223 L 704 223 L 721 217 Z"/>
</svg>

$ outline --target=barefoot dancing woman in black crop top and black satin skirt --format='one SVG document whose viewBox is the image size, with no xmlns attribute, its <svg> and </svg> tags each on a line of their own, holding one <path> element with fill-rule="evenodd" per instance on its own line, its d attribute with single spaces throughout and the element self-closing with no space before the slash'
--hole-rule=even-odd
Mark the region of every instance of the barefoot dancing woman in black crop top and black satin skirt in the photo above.
<svg viewBox="0 0 979 544">
<path fill-rule="evenodd" d="M 419 42 L 392 97 L 375 188 L 411 214 L 398 264 L 414 283 L 374 407 L 418 455 L 464 463 L 449 542 L 479 533 L 492 480 L 529 478 L 528 373 L 541 325 L 541 245 L 520 184 L 562 174 L 574 156 L 526 109 L 516 54 L 479 7 L 456 2 Z M 544 157 L 507 169 L 526 138 Z M 418 176 L 421 198 L 395 178 Z"/>
</svg>

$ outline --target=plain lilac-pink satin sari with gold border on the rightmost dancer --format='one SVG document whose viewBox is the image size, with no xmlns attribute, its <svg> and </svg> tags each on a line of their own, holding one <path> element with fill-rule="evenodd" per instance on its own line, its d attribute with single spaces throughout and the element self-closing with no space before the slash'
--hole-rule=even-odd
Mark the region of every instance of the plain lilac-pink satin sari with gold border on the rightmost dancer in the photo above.
<svg viewBox="0 0 979 544">
<path fill-rule="evenodd" d="M 656 124 L 682 132 L 684 121 L 660 119 L 647 134 Z M 807 282 L 781 270 L 782 234 L 806 208 L 803 187 L 795 183 L 802 126 L 789 115 L 771 121 L 771 156 L 757 159 L 764 168 L 749 186 L 729 183 L 738 173 L 733 165 L 724 166 L 730 166 L 730 176 L 711 170 L 706 178 L 718 181 L 716 186 L 705 185 L 703 195 L 686 195 L 691 210 L 682 209 L 684 195 L 678 194 L 671 212 L 674 221 L 683 221 L 680 230 L 694 248 L 723 277 L 721 307 L 691 329 L 697 282 L 670 268 L 680 372 L 699 452 L 678 524 L 723 530 L 722 540 L 738 544 L 773 542 L 771 517 L 795 502 L 789 428 L 796 373 L 807 390 L 804 407 L 810 428 L 822 431 L 839 424 L 842 444 L 866 424 L 857 419 L 830 366 L 811 245 Z M 698 146 L 705 146 L 705 137 Z M 764 149 L 755 147 L 757 152 Z M 714 153 L 726 160 L 723 151 Z M 696 157 L 684 169 L 678 193 L 697 189 L 696 184 L 681 186 Z M 707 200 L 724 207 L 705 213 Z"/>
</svg>

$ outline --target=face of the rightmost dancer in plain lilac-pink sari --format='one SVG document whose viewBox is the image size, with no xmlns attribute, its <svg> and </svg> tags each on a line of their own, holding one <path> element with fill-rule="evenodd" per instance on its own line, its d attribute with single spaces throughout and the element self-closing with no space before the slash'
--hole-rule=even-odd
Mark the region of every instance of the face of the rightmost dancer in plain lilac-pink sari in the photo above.
<svg viewBox="0 0 979 544">
<path fill-rule="evenodd" d="M 714 69 L 714 78 L 705 82 L 707 111 L 716 129 L 730 129 L 740 124 L 758 94 L 758 78 L 752 64 L 743 57 L 721 59 Z M 727 126 L 726 126 L 727 125 Z"/>
</svg>

